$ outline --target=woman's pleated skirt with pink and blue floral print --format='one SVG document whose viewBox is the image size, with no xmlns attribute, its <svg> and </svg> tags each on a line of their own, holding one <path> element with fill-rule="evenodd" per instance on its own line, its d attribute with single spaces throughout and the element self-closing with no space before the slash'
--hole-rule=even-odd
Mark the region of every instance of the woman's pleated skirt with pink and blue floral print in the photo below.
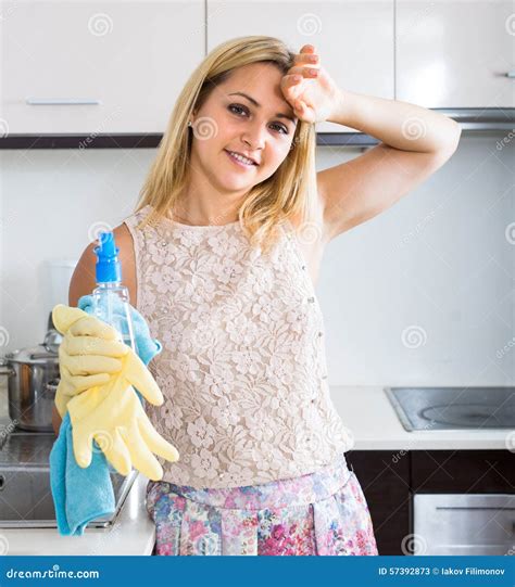
<svg viewBox="0 0 515 587">
<path fill-rule="evenodd" d="M 377 554 L 361 485 L 343 455 L 300 477 L 227 489 L 149 482 L 161 556 Z"/>
</svg>

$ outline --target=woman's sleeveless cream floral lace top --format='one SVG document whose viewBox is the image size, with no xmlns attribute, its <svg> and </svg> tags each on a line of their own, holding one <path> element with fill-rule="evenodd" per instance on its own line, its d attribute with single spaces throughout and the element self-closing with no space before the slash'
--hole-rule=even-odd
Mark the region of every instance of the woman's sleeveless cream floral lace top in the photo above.
<svg viewBox="0 0 515 587">
<path fill-rule="evenodd" d="M 329 396 L 322 311 L 293 227 L 271 256 L 239 221 L 136 225 L 137 309 L 163 349 L 149 365 L 165 401 L 147 404 L 179 451 L 163 481 L 194 488 L 312 473 L 352 448 Z"/>
</svg>

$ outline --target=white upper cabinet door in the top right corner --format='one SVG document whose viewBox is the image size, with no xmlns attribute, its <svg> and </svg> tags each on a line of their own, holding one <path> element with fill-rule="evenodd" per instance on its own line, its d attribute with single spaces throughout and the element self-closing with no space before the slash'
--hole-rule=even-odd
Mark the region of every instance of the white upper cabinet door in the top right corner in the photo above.
<svg viewBox="0 0 515 587">
<path fill-rule="evenodd" d="M 510 1 L 398 0 L 397 98 L 426 107 L 515 107 Z"/>
</svg>

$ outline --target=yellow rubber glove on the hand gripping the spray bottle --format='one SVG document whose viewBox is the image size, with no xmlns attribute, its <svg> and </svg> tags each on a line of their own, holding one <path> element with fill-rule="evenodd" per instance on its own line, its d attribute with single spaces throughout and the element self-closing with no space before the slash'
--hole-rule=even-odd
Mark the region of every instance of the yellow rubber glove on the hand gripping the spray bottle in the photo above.
<svg viewBox="0 0 515 587">
<path fill-rule="evenodd" d="M 55 407 L 61 418 L 75 395 L 108 383 L 122 370 L 129 347 L 118 341 L 116 330 L 86 311 L 58 304 L 52 310 L 56 330 L 63 334 L 59 346 L 61 379 L 55 392 Z"/>
</svg>

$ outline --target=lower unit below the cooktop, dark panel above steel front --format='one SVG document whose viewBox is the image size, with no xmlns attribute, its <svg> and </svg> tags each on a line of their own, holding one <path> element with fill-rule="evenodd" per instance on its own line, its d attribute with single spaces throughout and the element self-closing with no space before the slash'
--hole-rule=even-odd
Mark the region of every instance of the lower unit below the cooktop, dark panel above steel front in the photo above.
<svg viewBox="0 0 515 587">
<path fill-rule="evenodd" d="M 513 553 L 515 455 L 411 452 L 415 554 Z"/>
</svg>

